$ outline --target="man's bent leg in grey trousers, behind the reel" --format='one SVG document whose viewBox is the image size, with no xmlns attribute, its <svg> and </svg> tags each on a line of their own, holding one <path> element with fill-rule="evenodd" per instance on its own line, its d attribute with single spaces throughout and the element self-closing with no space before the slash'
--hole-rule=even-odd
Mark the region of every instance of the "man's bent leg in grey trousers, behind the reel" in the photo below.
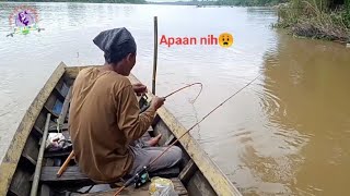
<svg viewBox="0 0 350 196">
<path fill-rule="evenodd" d="M 129 174 L 135 175 L 138 171 L 142 170 L 144 166 L 149 166 L 152 160 L 154 160 L 159 155 L 161 155 L 166 147 L 147 147 L 147 148 L 135 148 L 131 150 L 135 156 L 135 161 L 132 169 Z M 179 147 L 171 147 L 162 157 L 160 157 L 152 166 L 149 168 L 149 172 L 156 170 L 172 168 L 182 160 L 183 151 Z"/>
</svg>

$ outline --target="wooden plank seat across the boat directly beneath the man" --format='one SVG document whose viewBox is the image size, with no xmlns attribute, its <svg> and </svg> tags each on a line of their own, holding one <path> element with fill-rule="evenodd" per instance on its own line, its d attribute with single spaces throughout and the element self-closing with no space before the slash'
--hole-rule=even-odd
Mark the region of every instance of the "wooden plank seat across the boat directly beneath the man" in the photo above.
<svg viewBox="0 0 350 196">
<path fill-rule="evenodd" d="M 58 172 L 60 167 L 43 167 L 40 174 L 40 182 L 44 183 L 62 183 L 62 182 L 79 182 L 86 184 L 94 184 L 92 181 L 83 174 L 78 166 L 68 167 L 65 173 L 57 177 L 56 173 Z M 156 172 L 150 173 L 150 177 L 152 176 L 161 176 L 161 177 L 175 177 L 179 174 L 179 168 L 173 167 L 170 169 L 159 170 Z M 31 181 L 33 176 L 31 177 Z"/>
</svg>

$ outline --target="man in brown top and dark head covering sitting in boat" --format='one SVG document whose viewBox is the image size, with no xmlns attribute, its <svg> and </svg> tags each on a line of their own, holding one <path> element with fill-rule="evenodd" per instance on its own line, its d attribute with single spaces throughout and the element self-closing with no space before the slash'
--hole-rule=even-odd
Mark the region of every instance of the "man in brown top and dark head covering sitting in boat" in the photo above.
<svg viewBox="0 0 350 196">
<path fill-rule="evenodd" d="M 152 147 L 152 142 L 132 144 L 147 133 L 165 99 L 154 97 L 140 113 L 136 93 L 147 88 L 132 86 L 127 78 L 136 63 L 137 46 L 125 27 L 102 32 L 93 41 L 104 51 L 105 64 L 84 69 L 77 76 L 69 131 L 81 171 L 97 183 L 112 183 L 136 174 L 164 150 Z M 174 146 L 149 171 L 174 167 L 180 159 L 182 150 Z"/>
</svg>

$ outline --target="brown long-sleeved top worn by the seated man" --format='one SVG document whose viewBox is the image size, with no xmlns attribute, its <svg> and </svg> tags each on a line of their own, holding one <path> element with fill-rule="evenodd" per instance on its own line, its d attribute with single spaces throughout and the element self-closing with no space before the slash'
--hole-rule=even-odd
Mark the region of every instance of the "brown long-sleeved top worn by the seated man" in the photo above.
<svg viewBox="0 0 350 196">
<path fill-rule="evenodd" d="M 69 132 L 81 171 L 98 183 L 127 174 L 133 156 L 129 144 L 151 125 L 155 111 L 140 114 L 130 81 L 113 71 L 82 70 L 72 88 Z"/>
</svg>

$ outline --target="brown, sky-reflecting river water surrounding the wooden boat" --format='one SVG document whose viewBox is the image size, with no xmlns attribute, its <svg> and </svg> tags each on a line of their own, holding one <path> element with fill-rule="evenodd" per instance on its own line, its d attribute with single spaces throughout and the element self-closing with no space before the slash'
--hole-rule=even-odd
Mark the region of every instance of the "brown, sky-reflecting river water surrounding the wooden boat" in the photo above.
<svg viewBox="0 0 350 196">
<path fill-rule="evenodd" d="M 165 106 L 189 127 L 226 97 L 259 78 L 191 133 L 244 195 L 345 195 L 350 181 L 350 49 L 270 28 L 264 8 L 25 3 L 39 33 L 5 37 L 23 3 L 0 3 L 0 158 L 25 110 L 59 62 L 102 64 L 92 39 L 125 26 L 138 44 L 133 74 L 151 87 L 153 16 L 159 36 L 207 37 L 218 45 L 159 46 L 156 94 L 194 82 Z"/>
</svg>

